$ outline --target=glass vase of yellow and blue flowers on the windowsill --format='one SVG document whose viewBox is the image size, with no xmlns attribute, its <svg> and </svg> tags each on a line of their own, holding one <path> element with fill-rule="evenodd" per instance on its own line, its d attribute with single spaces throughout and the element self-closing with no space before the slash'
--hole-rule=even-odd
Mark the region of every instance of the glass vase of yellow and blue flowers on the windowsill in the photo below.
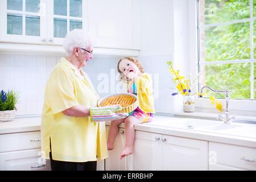
<svg viewBox="0 0 256 182">
<path fill-rule="evenodd" d="M 191 75 L 186 79 L 184 76 L 180 75 L 180 71 L 174 69 L 172 61 L 167 61 L 169 71 L 172 73 L 174 85 L 177 89 L 177 92 L 172 93 L 172 96 L 181 94 L 183 96 L 183 111 L 186 113 L 192 113 L 195 111 L 195 95 L 200 95 L 200 92 L 192 93 L 193 85 L 198 80 L 198 75 L 193 81 L 191 80 Z"/>
</svg>

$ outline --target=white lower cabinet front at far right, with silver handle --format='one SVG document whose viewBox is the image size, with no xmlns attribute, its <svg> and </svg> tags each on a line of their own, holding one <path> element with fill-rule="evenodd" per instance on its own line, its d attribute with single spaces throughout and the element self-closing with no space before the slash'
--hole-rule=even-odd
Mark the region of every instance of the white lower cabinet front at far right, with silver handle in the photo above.
<svg viewBox="0 0 256 182">
<path fill-rule="evenodd" d="M 209 170 L 256 170 L 256 148 L 209 142 Z"/>
</svg>

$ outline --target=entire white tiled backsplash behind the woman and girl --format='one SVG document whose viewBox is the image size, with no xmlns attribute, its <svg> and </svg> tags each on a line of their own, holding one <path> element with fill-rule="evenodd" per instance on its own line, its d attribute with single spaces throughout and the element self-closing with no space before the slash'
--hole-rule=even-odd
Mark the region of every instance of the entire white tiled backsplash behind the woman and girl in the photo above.
<svg viewBox="0 0 256 182">
<path fill-rule="evenodd" d="M 151 74 L 155 109 L 158 112 L 175 109 L 174 97 L 171 96 L 171 74 L 166 64 L 170 57 L 171 55 L 138 57 L 144 71 Z M 83 68 L 101 97 L 126 91 L 126 85 L 118 81 L 117 63 L 120 58 L 94 56 Z M 15 89 L 19 92 L 16 105 L 18 115 L 42 113 L 44 86 L 59 60 L 59 56 L 0 55 L 0 89 Z"/>
</svg>

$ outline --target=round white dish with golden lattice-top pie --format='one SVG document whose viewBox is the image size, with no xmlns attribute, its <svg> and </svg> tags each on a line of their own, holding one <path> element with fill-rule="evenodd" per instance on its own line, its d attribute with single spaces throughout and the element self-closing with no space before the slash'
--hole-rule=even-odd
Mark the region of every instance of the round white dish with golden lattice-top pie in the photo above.
<svg viewBox="0 0 256 182">
<path fill-rule="evenodd" d="M 122 106 L 122 110 L 118 111 L 118 113 L 130 113 L 138 107 L 139 102 L 138 97 L 131 93 L 110 94 L 98 101 L 98 106 L 100 107 L 111 105 Z"/>
</svg>

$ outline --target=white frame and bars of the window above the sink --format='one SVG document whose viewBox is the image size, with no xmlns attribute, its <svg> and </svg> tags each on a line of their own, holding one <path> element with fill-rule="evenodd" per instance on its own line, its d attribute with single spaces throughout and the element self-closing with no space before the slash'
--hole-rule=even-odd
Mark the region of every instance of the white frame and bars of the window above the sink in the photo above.
<svg viewBox="0 0 256 182">
<path fill-rule="evenodd" d="M 200 29 L 199 29 L 199 13 L 200 13 L 200 0 L 192 0 L 188 1 L 188 7 L 189 7 L 189 72 L 192 73 L 192 75 L 197 75 L 199 73 L 200 65 L 207 65 L 207 64 L 220 64 L 220 63 L 251 63 L 251 75 L 250 75 L 250 81 L 251 81 L 251 98 L 254 98 L 254 64 L 256 64 L 256 59 L 254 59 L 254 43 L 253 43 L 253 22 L 256 20 L 253 17 L 253 0 L 250 0 L 250 18 L 242 19 L 242 20 L 234 20 L 231 22 L 225 22 L 225 23 L 214 23 L 214 24 L 207 24 L 201 27 L 209 27 L 209 26 L 219 26 L 219 25 L 226 25 L 226 24 L 233 24 L 233 23 L 239 23 L 239 22 L 250 22 L 250 59 L 248 60 L 229 60 L 229 61 L 214 61 L 214 62 L 200 62 Z M 195 31 L 194 31 L 195 30 Z M 204 85 L 202 85 L 204 86 Z M 197 90 L 200 90 L 200 84 L 197 85 Z M 223 107 L 225 109 L 225 99 L 217 99 L 223 104 Z M 196 110 L 197 111 L 203 111 L 204 109 L 212 109 L 212 111 L 215 111 L 214 106 L 210 104 L 209 98 L 199 98 L 196 97 Z M 229 100 L 229 110 L 233 111 L 234 113 L 238 113 L 238 111 L 241 111 L 240 114 L 244 115 L 256 115 L 256 100 L 238 100 L 238 99 L 230 99 Z"/>
</svg>

